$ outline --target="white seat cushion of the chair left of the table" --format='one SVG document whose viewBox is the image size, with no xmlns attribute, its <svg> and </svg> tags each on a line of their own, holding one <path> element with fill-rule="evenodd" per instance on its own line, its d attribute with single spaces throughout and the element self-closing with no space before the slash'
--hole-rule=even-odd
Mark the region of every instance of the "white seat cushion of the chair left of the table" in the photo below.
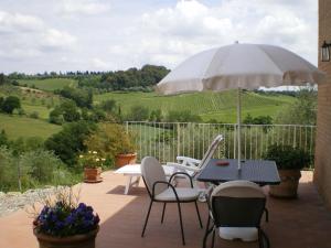
<svg viewBox="0 0 331 248">
<path fill-rule="evenodd" d="M 175 187 L 175 191 L 180 201 L 194 201 L 197 198 L 200 194 L 200 192 L 196 188 L 191 188 L 191 187 Z M 156 196 L 156 200 L 164 201 L 164 202 L 177 201 L 175 195 L 171 187 L 168 187 L 166 191 L 158 194 Z"/>
</svg>

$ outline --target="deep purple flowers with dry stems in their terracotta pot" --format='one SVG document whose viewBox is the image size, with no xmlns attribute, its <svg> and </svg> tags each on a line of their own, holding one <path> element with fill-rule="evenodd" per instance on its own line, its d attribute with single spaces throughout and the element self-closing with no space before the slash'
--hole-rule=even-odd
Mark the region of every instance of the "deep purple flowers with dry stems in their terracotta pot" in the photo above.
<svg viewBox="0 0 331 248">
<path fill-rule="evenodd" d="M 72 191 L 47 198 L 33 220 L 40 248 L 95 248 L 99 217 L 90 206 L 77 203 Z"/>
</svg>

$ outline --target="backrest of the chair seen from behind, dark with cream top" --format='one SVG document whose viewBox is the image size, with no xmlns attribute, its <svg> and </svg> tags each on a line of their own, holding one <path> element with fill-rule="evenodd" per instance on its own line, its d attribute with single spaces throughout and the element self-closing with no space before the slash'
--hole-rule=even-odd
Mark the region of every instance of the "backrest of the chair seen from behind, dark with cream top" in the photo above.
<svg viewBox="0 0 331 248">
<path fill-rule="evenodd" d="M 210 206 L 216 227 L 259 227 L 266 196 L 253 182 L 232 181 L 213 191 Z"/>
</svg>

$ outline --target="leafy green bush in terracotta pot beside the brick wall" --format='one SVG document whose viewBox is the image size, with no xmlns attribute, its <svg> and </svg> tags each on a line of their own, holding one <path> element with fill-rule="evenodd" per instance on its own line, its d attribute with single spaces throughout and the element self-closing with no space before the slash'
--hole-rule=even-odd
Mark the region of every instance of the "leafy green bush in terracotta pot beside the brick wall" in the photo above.
<svg viewBox="0 0 331 248">
<path fill-rule="evenodd" d="M 276 197 L 297 197 L 300 170 L 311 162 L 310 154 L 291 145 L 271 144 L 264 159 L 276 161 L 280 176 L 280 184 L 270 185 L 269 194 Z"/>
</svg>

